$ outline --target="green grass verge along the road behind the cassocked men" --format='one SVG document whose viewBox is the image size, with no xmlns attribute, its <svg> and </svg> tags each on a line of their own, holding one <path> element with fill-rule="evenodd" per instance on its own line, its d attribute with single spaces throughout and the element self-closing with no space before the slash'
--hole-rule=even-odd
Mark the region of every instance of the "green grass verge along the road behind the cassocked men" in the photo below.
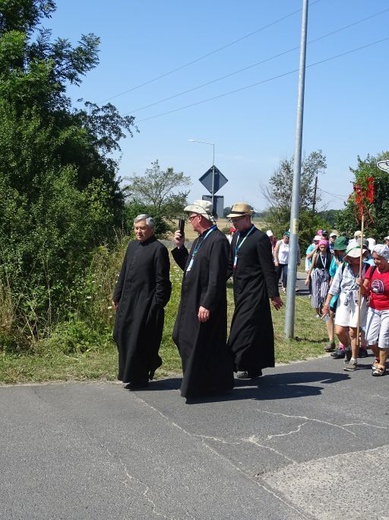
<svg viewBox="0 0 389 520">
<path fill-rule="evenodd" d="M 182 272 L 172 263 L 172 297 L 166 307 L 165 328 L 161 345 L 162 367 L 156 377 L 181 373 L 181 362 L 171 334 L 176 318 Z M 228 284 L 229 323 L 231 321 L 232 288 Z M 290 363 L 320 356 L 328 341 L 326 327 L 321 320 L 315 319 L 315 312 L 308 298 L 296 296 L 295 339 L 285 338 L 285 306 L 280 311 L 273 310 L 275 330 L 276 362 Z M 117 351 L 109 340 L 110 331 L 105 336 L 96 334 L 85 348 L 75 348 L 69 352 L 58 339 L 54 345 L 43 344 L 28 352 L 10 353 L 0 350 L 0 384 L 33 383 L 66 380 L 115 380 L 117 375 Z M 54 343 L 54 342 L 52 342 Z"/>
</svg>

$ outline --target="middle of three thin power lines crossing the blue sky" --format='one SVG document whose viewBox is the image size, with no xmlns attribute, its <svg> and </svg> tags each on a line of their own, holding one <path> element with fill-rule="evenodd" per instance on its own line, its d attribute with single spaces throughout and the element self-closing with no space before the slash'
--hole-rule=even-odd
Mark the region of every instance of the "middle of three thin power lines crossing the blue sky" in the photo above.
<svg viewBox="0 0 389 520">
<path fill-rule="evenodd" d="M 313 43 L 316 43 L 316 42 L 321 41 L 321 40 L 323 40 L 323 39 L 325 39 L 325 38 L 328 38 L 328 37 L 330 37 L 330 36 L 333 36 L 333 35 L 336 34 L 336 33 L 339 33 L 339 32 L 342 32 L 342 31 L 345 31 L 346 29 L 349 29 L 350 27 L 354 27 L 354 26 L 359 25 L 359 24 L 361 24 L 361 23 L 363 23 L 363 22 L 365 22 L 365 21 L 367 21 L 367 20 L 370 20 L 370 19 L 372 19 L 372 18 L 375 18 L 375 17 L 377 17 L 377 16 L 380 16 L 380 15 L 382 15 L 383 13 L 385 13 L 386 11 L 389 11 L 389 8 L 387 8 L 387 9 L 383 9 L 382 11 L 380 11 L 380 12 L 378 12 L 378 13 L 374 13 L 373 15 L 367 16 L 367 17 L 365 17 L 365 18 L 361 18 L 361 19 L 359 19 L 359 20 L 356 20 L 355 22 L 352 22 L 352 23 L 350 23 L 350 24 L 348 24 L 348 25 L 345 25 L 345 26 L 343 26 L 343 27 L 340 27 L 340 28 L 338 28 L 338 29 L 335 29 L 334 31 L 331 31 L 331 32 L 329 32 L 329 33 L 326 33 L 326 34 L 324 34 L 324 35 L 322 35 L 322 36 L 320 36 L 320 37 L 318 37 L 318 38 L 315 38 L 315 39 L 313 39 L 313 40 L 310 40 L 310 41 L 308 42 L 308 45 L 312 45 Z M 275 60 L 275 59 L 277 59 L 277 58 L 280 58 L 281 56 L 284 56 L 284 55 L 286 55 L 286 54 L 289 54 L 289 53 L 291 53 L 291 52 L 293 52 L 293 51 L 295 51 L 295 50 L 297 50 L 297 49 L 299 49 L 299 46 L 292 47 L 291 49 L 288 49 L 288 50 L 286 50 L 286 51 L 283 51 L 283 52 L 281 52 L 281 53 L 278 53 L 278 54 L 276 54 L 276 55 L 274 55 L 274 56 L 270 56 L 269 58 L 265 58 L 265 59 L 263 59 L 263 60 L 261 60 L 261 61 L 258 61 L 258 62 L 256 62 L 256 63 L 253 63 L 252 65 L 248 65 L 247 67 L 244 67 L 244 68 L 242 68 L 242 69 L 238 69 L 238 70 L 236 70 L 236 71 L 234 71 L 234 72 L 230 72 L 229 74 L 225 74 L 224 76 L 220 76 L 220 77 L 215 78 L 215 79 L 213 79 L 213 80 L 211 80 L 211 81 L 207 81 L 207 82 L 205 82 L 205 83 L 202 83 L 202 84 L 200 84 L 200 85 L 197 85 L 197 86 L 195 86 L 195 87 L 192 87 L 192 88 L 190 88 L 190 89 L 188 89 L 188 90 L 184 90 L 184 91 L 178 92 L 178 93 L 176 93 L 176 94 L 172 94 L 171 96 L 168 96 L 168 97 L 166 97 L 166 98 L 164 98 L 164 99 L 160 99 L 159 101 L 154 101 L 154 102 L 152 102 L 152 103 L 149 103 L 148 105 L 144 105 L 144 106 L 141 106 L 141 107 L 139 107 L 139 108 L 136 108 L 135 110 L 131 110 L 131 111 L 127 112 L 126 115 L 128 115 L 128 114 L 134 114 L 135 112 L 140 112 L 141 110 L 145 110 L 145 109 L 147 109 L 147 108 L 151 108 L 151 107 L 156 106 L 156 105 L 159 105 L 159 104 L 161 104 L 161 103 L 165 103 L 166 101 L 170 101 L 170 100 L 175 99 L 175 98 L 177 98 L 177 97 L 183 96 L 183 95 L 185 95 L 185 94 L 189 94 L 190 92 L 194 92 L 195 90 L 199 90 L 200 88 L 206 87 L 206 86 L 208 86 L 208 85 L 212 85 L 213 83 L 217 83 L 217 82 L 219 82 L 219 81 L 222 81 L 223 79 L 227 79 L 227 78 L 232 77 L 232 76 L 234 76 L 234 75 L 236 75 L 236 74 L 240 74 L 241 72 L 245 72 L 246 70 L 249 70 L 249 69 L 251 69 L 251 68 L 257 67 L 257 66 L 262 65 L 262 64 L 264 64 L 264 63 L 267 63 L 267 62 L 269 62 L 269 61 L 272 61 L 272 60 Z"/>
</svg>

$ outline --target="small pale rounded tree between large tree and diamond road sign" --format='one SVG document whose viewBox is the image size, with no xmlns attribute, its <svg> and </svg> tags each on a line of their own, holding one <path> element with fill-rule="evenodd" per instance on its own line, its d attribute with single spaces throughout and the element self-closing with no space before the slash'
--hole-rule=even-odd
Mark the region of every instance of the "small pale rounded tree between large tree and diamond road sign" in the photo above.
<svg viewBox="0 0 389 520">
<path fill-rule="evenodd" d="M 125 188 L 128 199 L 138 206 L 151 208 L 153 216 L 172 220 L 183 215 L 189 190 L 183 191 L 180 188 L 191 184 L 190 177 L 183 172 L 175 172 L 173 168 L 162 171 L 156 160 L 144 175 L 133 175 L 128 181 Z"/>
</svg>

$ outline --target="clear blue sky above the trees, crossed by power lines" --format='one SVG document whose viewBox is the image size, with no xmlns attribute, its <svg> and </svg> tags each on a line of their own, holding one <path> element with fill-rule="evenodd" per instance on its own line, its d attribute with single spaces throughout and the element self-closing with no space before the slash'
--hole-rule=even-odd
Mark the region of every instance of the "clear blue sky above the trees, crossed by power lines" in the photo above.
<svg viewBox="0 0 389 520">
<path fill-rule="evenodd" d="M 213 147 L 189 139 L 206 141 L 229 181 L 218 193 L 225 206 L 268 206 L 261 187 L 295 147 L 302 0 L 56 3 L 44 23 L 53 37 L 101 38 L 100 64 L 69 89 L 74 104 L 109 101 L 136 117 L 122 177 L 158 159 L 189 175 L 189 198 L 201 198 Z M 358 156 L 389 150 L 388 27 L 387 0 L 309 2 L 303 150 L 327 158 L 322 208 L 343 207 Z"/>
</svg>

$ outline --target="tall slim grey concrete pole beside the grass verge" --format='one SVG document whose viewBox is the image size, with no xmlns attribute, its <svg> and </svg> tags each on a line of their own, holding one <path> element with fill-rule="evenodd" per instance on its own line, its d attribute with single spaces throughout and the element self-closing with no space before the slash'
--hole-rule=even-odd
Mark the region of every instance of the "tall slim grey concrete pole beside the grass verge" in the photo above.
<svg viewBox="0 0 389 520">
<path fill-rule="evenodd" d="M 290 249 L 288 260 L 288 287 L 286 292 L 285 311 L 285 335 L 293 338 L 294 315 L 296 300 L 296 264 L 298 250 L 299 230 L 299 206 L 300 206 L 300 183 L 301 183 L 301 155 L 303 140 L 303 115 L 304 115 L 304 88 L 305 88 L 305 58 L 307 50 L 307 27 L 308 27 L 308 0 L 303 0 L 302 22 L 301 22 L 301 44 L 300 44 L 300 68 L 297 98 L 297 120 L 294 150 L 292 207 L 290 212 Z"/>
</svg>

